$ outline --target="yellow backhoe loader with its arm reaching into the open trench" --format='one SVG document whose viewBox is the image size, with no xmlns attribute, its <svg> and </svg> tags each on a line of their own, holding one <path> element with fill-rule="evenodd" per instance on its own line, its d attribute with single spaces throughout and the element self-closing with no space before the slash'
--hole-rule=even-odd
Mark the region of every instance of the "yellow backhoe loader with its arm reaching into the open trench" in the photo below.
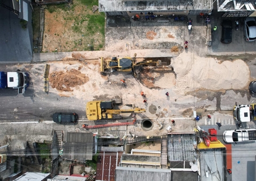
<svg viewBox="0 0 256 181">
<path fill-rule="evenodd" d="M 161 65 L 161 60 L 158 61 L 153 61 L 153 60 L 145 60 L 141 61 L 138 63 L 135 63 L 137 54 L 134 53 L 133 57 L 122 57 L 118 58 L 117 57 L 112 57 L 111 60 L 105 60 L 103 57 L 100 57 L 100 72 L 104 72 L 105 70 L 110 69 L 111 72 L 115 71 L 123 71 L 123 72 L 132 72 L 134 74 L 134 77 L 137 77 L 134 67 L 138 67 L 141 65 L 149 65 L 149 64 L 156 64 L 156 65 Z"/>
</svg>

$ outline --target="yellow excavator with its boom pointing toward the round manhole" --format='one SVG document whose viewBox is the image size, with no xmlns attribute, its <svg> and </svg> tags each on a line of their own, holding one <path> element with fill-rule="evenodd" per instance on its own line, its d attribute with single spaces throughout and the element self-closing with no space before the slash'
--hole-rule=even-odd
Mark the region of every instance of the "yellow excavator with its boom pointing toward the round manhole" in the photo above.
<svg viewBox="0 0 256 181">
<path fill-rule="evenodd" d="M 125 107 L 125 106 L 124 106 Z M 89 120 L 115 119 L 115 114 L 122 117 L 129 117 L 130 113 L 146 112 L 143 108 L 132 108 L 126 106 L 125 109 L 114 109 L 115 101 L 90 101 L 86 104 L 86 116 Z"/>
</svg>

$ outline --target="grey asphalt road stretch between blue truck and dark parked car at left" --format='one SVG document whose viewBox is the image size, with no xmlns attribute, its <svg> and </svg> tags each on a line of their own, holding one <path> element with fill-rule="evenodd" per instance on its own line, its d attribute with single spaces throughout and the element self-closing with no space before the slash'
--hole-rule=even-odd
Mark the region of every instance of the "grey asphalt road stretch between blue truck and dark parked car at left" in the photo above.
<svg viewBox="0 0 256 181">
<path fill-rule="evenodd" d="M 16 89 L 1 89 L 1 120 L 51 120 L 54 112 L 76 112 L 85 117 L 85 103 L 74 97 L 60 97 L 27 88 L 25 95 L 17 95 Z"/>
</svg>

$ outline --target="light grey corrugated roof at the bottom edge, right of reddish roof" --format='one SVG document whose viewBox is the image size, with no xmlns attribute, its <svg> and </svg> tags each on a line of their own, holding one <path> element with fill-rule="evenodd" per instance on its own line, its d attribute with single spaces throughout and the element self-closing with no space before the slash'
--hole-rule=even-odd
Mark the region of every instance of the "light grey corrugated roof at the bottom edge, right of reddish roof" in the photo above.
<svg viewBox="0 0 256 181">
<path fill-rule="evenodd" d="M 169 181 L 172 179 L 171 176 L 172 173 L 169 169 L 116 167 L 116 181 Z"/>
</svg>

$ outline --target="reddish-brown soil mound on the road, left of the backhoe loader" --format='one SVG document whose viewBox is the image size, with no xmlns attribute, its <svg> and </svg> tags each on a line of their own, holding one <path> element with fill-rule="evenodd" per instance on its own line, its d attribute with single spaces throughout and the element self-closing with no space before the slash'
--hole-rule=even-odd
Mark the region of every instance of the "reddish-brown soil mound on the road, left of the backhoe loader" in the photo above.
<svg viewBox="0 0 256 181">
<path fill-rule="evenodd" d="M 54 71 L 49 76 L 50 84 L 59 91 L 73 91 L 70 87 L 85 84 L 89 77 L 76 69 Z"/>
</svg>

